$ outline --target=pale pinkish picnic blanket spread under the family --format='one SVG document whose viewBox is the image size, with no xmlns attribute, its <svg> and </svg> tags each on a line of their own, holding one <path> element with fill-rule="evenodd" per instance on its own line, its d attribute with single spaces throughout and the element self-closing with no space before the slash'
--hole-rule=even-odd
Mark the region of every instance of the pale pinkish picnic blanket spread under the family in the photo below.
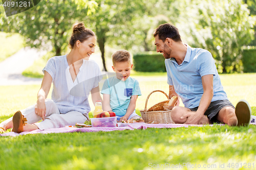
<svg viewBox="0 0 256 170">
<path fill-rule="evenodd" d="M 22 133 L 3 133 L 0 134 L 1 136 L 19 136 L 19 135 L 27 135 L 27 134 L 48 134 L 48 133 L 73 133 L 73 132 L 111 132 L 111 131 L 123 131 L 123 130 L 134 130 L 134 129 L 147 129 L 147 128 L 180 128 L 180 127 L 202 127 L 202 126 L 223 126 L 224 124 L 215 124 L 215 125 L 188 125 L 188 124 L 134 124 L 125 127 L 114 127 L 114 128 L 54 128 L 48 130 L 34 130 L 31 132 L 22 132 Z M 256 123 L 251 123 L 251 125 L 256 125 Z"/>
</svg>

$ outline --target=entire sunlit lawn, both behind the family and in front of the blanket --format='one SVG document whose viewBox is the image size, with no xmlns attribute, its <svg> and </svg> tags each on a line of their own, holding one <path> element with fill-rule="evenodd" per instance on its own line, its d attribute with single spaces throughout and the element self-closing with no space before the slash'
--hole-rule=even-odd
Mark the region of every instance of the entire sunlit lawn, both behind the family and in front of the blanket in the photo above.
<svg viewBox="0 0 256 170">
<path fill-rule="evenodd" d="M 140 81 L 142 96 L 137 110 L 144 109 L 151 91 L 167 92 L 166 75 L 133 75 Z M 148 79 L 146 79 L 148 78 Z M 163 79 L 158 82 L 152 80 Z M 256 74 L 221 75 L 224 90 L 236 105 L 246 99 L 256 114 Z M 36 101 L 40 85 L 1 86 L 0 122 Z M 50 97 L 50 95 L 49 95 Z M 151 105 L 165 100 L 152 94 Z M 92 108 L 93 110 L 93 108 Z M 33 134 L 0 137 L 1 169 L 173 169 L 189 163 L 200 169 L 255 169 L 256 126 L 189 127 L 97 133 Z M 223 168 L 224 163 L 224 168 Z M 153 168 L 161 167 L 162 168 Z M 229 165 L 229 167 L 228 167 Z M 170 168 L 169 168 L 170 167 Z M 181 167 L 181 166 L 179 166 Z M 232 168 L 233 167 L 233 168 Z M 237 167 L 237 168 L 236 168 Z M 254 168 L 253 168 L 254 167 Z M 184 166 L 177 169 L 192 169 Z"/>
</svg>

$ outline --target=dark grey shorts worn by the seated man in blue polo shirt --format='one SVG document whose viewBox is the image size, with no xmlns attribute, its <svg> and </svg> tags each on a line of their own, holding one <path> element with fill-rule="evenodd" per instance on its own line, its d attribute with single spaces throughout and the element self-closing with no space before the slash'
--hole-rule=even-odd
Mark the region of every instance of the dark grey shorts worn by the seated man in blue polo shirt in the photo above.
<svg viewBox="0 0 256 170">
<path fill-rule="evenodd" d="M 204 115 L 206 115 L 211 123 L 220 123 L 217 120 L 217 114 L 219 113 L 219 111 L 223 108 L 223 107 L 232 107 L 234 108 L 234 106 L 232 105 L 231 102 L 229 102 L 228 100 L 219 100 L 219 101 L 214 101 L 211 102 L 208 109 L 204 112 Z M 191 108 L 191 111 L 197 111 L 198 107 L 195 108 Z"/>
</svg>

